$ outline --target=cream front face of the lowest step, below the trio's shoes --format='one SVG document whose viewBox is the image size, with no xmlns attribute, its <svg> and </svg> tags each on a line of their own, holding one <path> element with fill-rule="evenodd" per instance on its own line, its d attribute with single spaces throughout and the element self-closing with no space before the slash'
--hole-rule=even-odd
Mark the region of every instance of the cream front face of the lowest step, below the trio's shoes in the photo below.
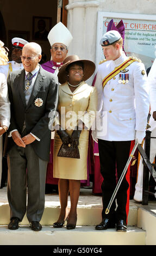
<svg viewBox="0 0 156 256">
<path fill-rule="evenodd" d="M 145 245 L 145 236 L 146 232 L 137 227 L 128 227 L 123 233 L 80 225 L 73 230 L 43 226 L 41 231 L 33 231 L 29 226 L 17 230 L 0 226 L 0 245 Z"/>
</svg>

